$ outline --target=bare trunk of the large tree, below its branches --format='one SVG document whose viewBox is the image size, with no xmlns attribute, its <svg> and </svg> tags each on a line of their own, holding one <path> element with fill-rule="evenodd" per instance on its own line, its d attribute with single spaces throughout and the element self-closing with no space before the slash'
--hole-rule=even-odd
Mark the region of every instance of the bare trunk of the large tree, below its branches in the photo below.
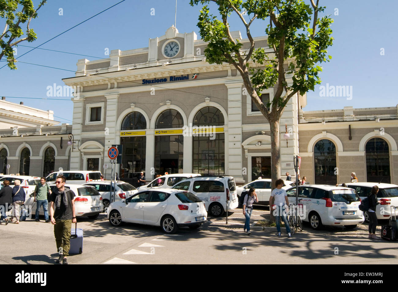
<svg viewBox="0 0 398 292">
<path fill-rule="evenodd" d="M 281 178 L 281 141 L 279 134 L 279 119 L 270 120 L 271 129 L 271 190 L 275 188 L 275 181 Z M 273 210 L 269 206 L 271 217 L 269 222 L 275 222 Z"/>
</svg>

